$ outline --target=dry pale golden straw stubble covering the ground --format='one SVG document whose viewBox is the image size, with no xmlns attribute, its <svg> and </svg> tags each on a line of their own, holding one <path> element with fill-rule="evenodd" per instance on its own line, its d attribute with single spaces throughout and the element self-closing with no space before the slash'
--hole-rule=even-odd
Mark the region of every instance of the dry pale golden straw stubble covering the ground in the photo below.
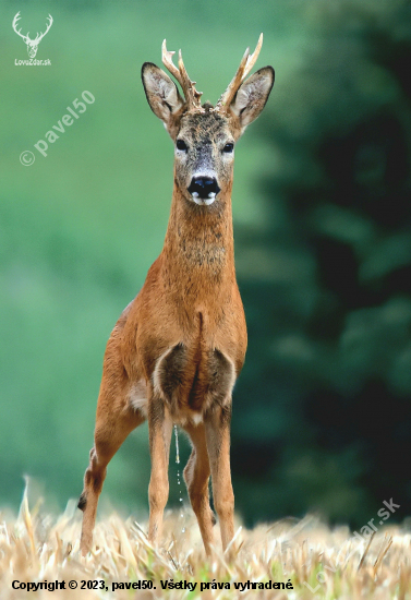
<svg viewBox="0 0 411 600">
<path fill-rule="evenodd" d="M 218 526 L 217 526 L 218 527 Z M 85 559 L 78 552 L 81 520 L 75 503 L 58 518 L 32 511 L 24 494 L 17 518 L 0 517 L 0 598 L 88 600 L 96 598 L 140 599 L 329 599 L 411 600 L 411 535 L 399 527 L 386 527 L 367 543 L 352 538 L 348 528 L 330 530 L 316 517 L 286 519 L 253 530 L 238 526 L 234 559 L 228 561 L 216 544 L 207 561 L 198 528 L 188 517 L 181 532 L 179 513 L 169 512 L 165 543 L 153 548 L 146 526 L 112 514 L 101 518 L 95 530 L 94 550 Z M 218 539 L 216 532 L 216 540 Z M 13 581 L 104 579 L 108 590 L 59 589 L 27 592 L 14 590 Z M 111 591 L 112 581 L 150 579 L 156 589 Z M 197 583 L 193 591 L 162 590 L 160 581 Z M 201 583 L 225 583 L 230 589 L 203 589 Z M 292 590 L 247 589 L 234 584 L 291 581 Z M 16 585 L 16 584 L 14 584 Z M 318 586 L 318 587 L 317 587 Z M 226 586 L 227 587 L 227 586 Z M 315 591 L 314 591 L 315 590 Z"/>
</svg>

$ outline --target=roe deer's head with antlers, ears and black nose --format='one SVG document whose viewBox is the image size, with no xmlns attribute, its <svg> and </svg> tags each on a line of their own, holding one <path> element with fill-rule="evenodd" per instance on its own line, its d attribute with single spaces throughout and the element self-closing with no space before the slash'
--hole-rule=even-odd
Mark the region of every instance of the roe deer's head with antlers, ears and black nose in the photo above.
<svg viewBox="0 0 411 600">
<path fill-rule="evenodd" d="M 190 203 L 210 206 L 231 193 L 234 145 L 245 128 L 263 110 L 274 84 L 273 67 L 264 67 L 246 80 L 263 45 L 259 36 L 255 51 L 246 49 L 226 92 L 214 107 L 201 105 L 201 92 L 188 75 L 181 50 L 178 68 L 162 43 L 162 62 L 181 85 L 161 69 L 145 62 L 142 79 L 148 104 L 161 119 L 176 144 L 174 180 Z"/>
</svg>

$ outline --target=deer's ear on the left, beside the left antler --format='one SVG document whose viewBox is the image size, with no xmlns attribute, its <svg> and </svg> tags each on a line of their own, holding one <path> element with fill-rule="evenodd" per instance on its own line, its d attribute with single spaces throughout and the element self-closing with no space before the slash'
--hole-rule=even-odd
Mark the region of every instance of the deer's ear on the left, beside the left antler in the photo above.
<svg viewBox="0 0 411 600">
<path fill-rule="evenodd" d="M 143 64 L 142 80 L 150 109 L 161 119 L 172 137 L 176 116 L 185 104 L 179 94 L 177 85 L 153 62 L 145 62 Z"/>
</svg>

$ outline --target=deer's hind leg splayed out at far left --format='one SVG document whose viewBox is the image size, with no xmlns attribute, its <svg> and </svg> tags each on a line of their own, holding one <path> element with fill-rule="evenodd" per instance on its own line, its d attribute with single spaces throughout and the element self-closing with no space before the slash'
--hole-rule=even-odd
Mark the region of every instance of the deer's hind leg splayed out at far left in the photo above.
<svg viewBox="0 0 411 600">
<path fill-rule="evenodd" d="M 84 475 L 84 489 L 78 500 L 83 511 L 81 551 L 85 555 L 92 548 L 97 503 L 106 479 L 107 465 L 129 433 L 140 425 L 145 416 L 128 408 L 125 394 L 107 395 L 101 386 L 97 404 L 95 443 L 89 453 L 89 464 Z M 125 406 L 124 406 L 125 405 Z"/>
</svg>

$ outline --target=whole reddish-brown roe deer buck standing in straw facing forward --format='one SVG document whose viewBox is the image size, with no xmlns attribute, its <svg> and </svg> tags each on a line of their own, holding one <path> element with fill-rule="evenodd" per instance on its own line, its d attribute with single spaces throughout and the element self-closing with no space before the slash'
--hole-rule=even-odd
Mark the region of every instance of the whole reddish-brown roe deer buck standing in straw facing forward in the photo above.
<svg viewBox="0 0 411 600">
<path fill-rule="evenodd" d="M 246 326 L 235 280 L 231 215 L 233 147 L 263 110 L 271 67 L 252 70 L 263 43 L 240 67 L 217 105 L 200 103 L 184 68 L 162 43 L 162 62 L 180 83 L 145 62 L 142 80 L 153 112 L 176 144 L 174 184 L 165 244 L 137 297 L 112 331 L 104 359 L 95 445 L 78 507 L 82 553 L 92 547 L 107 465 L 129 433 L 148 420 L 152 476 L 148 539 L 158 542 L 168 500 L 173 424 L 192 443 L 184 469 L 207 554 L 213 544 L 211 476 L 223 550 L 234 532 L 230 472 L 231 393 L 244 362 Z"/>
</svg>

